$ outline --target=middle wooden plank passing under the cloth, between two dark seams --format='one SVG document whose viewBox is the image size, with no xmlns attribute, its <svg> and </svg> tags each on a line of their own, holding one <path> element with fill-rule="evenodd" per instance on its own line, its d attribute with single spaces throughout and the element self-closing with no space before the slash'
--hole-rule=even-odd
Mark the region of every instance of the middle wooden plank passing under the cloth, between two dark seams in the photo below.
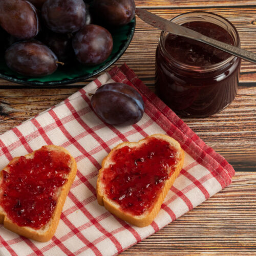
<svg viewBox="0 0 256 256">
<path fill-rule="evenodd" d="M 79 88 L 1 89 L 0 133 L 66 99 Z M 236 170 L 256 171 L 256 87 L 240 87 L 236 99 L 221 113 L 183 120 Z"/>
</svg>

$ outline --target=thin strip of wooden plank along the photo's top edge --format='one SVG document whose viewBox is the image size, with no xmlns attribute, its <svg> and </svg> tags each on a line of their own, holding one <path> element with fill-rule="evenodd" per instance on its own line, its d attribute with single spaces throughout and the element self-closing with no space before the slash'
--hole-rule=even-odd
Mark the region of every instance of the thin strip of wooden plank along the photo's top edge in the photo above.
<svg viewBox="0 0 256 256">
<path fill-rule="evenodd" d="M 190 7 L 190 8 L 195 8 L 195 7 L 200 7 L 200 6 L 207 6 L 207 7 L 212 7 L 212 6 L 248 6 L 248 5 L 256 5 L 255 0 L 135 0 L 136 6 L 137 7 L 144 7 L 144 8 L 168 8 L 168 7 L 173 7 L 173 8 L 182 8 L 182 7 Z"/>
</svg>

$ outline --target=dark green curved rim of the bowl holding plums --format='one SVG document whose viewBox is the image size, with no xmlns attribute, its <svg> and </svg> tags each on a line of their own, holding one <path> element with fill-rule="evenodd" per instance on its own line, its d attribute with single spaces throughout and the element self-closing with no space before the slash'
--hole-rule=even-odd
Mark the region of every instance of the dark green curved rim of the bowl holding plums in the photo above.
<svg viewBox="0 0 256 256">
<path fill-rule="evenodd" d="M 15 82 L 15 83 L 18 83 L 18 84 L 26 84 L 26 85 L 31 86 L 31 87 L 52 87 L 52 86 L 56 87 L 56 86 L 61 86 L 61 85 L 64 85 L 64 84 L 71 84 L 71 83 L 79 82 L 81 80 L 87 80 L 87 79 L 89 79 L 93 76 L 96 76 L 100 72 L 108 69 L 111 65 L 113 65 L 123 55 L 123 53 L 129 47 L 129 45 L 130 45 L 130 43 L 133 39 L 134 32 L 135 32 L 135 27 L 136 27 L 136 17 L 134 17 L 131 20 L 130 24 L 132 24 L 131 29 L 130 29 L 131 32 L 127 36 L 127 40 L 125 41 L 125 44 L 123 45 L 121 50 L 118 51 L 117 54 L 114 55 L 113 58 L 110 61 L 106 62 L 105 65 L 102 66 L 101 68 L 99 68 L 95 73 L 87 74 L 87 75 L 81 75 L 81 76 L 78 76 L 78 77 L 72 78 L 72 79 L 65 78 L 61 81 L 49 81 L 49 82 L 26 81 L 23 78 L 10 77 L 10 76 L 5 75 L 1 72 L 0 72 L 0 78 L 3 78 L 5 80 L 11 81 L 11 82 Z M 129 25 L 129 24 L 127 24 L 127 25 Z"/>
</svg>

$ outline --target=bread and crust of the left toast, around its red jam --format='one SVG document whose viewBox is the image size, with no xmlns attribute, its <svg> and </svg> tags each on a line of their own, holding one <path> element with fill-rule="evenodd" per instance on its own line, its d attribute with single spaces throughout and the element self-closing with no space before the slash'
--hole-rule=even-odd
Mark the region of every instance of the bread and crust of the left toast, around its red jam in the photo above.
<svg viewBox="0 0 256 256">
<path fill-rule="evenodd" d="M 68 166 L 70 168 L 70 171 L 65 174 L 65 176 L 62 176 L 62 178 L 65 178 L 65 183 L 58 187 L 55 191 L 54 200 L 56 200 L 55 208 L 52 212 L 50 220 L 41 228 L 36 229 L 30 226 L 19 226 L 15 222 L 11 220 L 11 218 L 8 217 L 7 212 L 4 210 L 3 205 L 0 204 L 0 224 L 4 224 L 4 227 L 7 229 L 20 234 L 21 236 L 39 241 L 39 242 L 46 242 L 49 241 L 56 231 L 56 228 L 59 223 L 61 210 L 63 207 L 63 204 L 65 203 L 66 197 L 69 193 L 70 187 L 75 179 L 77 166 L 75 159 L 70 155 L 70 153 L 63 147 L 55 146 L 55 145 L 48 145 L 48 146 L 42 146 L 39 150 L 46 150 L 46 151 L 54 151 L 56 153 L 62 152 L 65 155 L 69 155 L 70 159 L 68 160 Z M 28 154 L 25 156 L 26 159 L 34 159 L 35 152 L 32 152 L 31 154 Z M 15 157 L 13 160 L 10 161 L 10 163 L 3 169 L 5 172 L 10 172 L 10 165 L 15 164 L 20 157 Z M 4 196 L 3 191 L 3 178 L 4 173 L 3 170 L 0 172 L 0 199 Z M 1 200 L 0 200 L 1 202 Z"/>
</svg>

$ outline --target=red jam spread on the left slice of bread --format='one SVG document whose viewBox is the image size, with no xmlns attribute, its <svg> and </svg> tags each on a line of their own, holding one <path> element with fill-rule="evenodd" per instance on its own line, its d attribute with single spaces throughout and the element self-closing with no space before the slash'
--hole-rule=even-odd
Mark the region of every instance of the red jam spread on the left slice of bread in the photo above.
<svg viewBox="0 0 256 256">
<path fill-rule="evenodd" d="M 35 152 L 34 158 L 20 157 L 3 170 L 0 204 L 18 226 L 40 229 L 52 217 L 56 192 L 70 172 L 70 156 L 47 149 Z"/>
</svg>

